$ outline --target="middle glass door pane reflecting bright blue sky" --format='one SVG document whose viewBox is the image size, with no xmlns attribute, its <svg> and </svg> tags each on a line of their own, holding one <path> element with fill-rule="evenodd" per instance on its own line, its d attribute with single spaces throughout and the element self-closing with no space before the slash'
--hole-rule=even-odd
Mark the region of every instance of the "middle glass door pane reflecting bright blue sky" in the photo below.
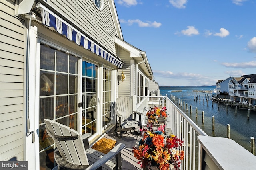
<svg viewBox="0 0 256 170">
<path fill-rule="evenodd" d="M 83 61 L 82 68 L 82 134 L 97 132 L 97 70 L 95 64 Z"/>
</svg>

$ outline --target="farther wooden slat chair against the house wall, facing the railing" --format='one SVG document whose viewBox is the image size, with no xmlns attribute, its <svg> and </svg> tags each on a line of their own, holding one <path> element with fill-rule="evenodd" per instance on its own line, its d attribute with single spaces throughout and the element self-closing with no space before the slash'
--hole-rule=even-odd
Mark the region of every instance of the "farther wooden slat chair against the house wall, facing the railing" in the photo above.
<svg viewBox="0 0 256 170">
<path fill-rule="evenodd" d="M 139 115 L 139 120 L 136 120 L 136 115 Z M 122 131 L 135 129 L 141 126 L 142 113 L 132 109 L 132 99 L 129 97 L 120 96 L 116 99 L 116 127 L 115 132 L 122 139 Z M 119 134 L 117 128 L 119 127 Z"/>
</svg>

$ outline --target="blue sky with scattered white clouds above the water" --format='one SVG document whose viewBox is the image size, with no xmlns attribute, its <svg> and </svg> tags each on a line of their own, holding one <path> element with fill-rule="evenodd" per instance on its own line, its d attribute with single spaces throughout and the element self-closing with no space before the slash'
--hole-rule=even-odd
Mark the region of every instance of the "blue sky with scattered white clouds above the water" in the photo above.
<svg viewBox="0 0 256 170">
<path fill-rule="evenodd" d="M 160 86 L 256 74 L 256 0 L 114 0 L 124 41 Z"/>
</svg>

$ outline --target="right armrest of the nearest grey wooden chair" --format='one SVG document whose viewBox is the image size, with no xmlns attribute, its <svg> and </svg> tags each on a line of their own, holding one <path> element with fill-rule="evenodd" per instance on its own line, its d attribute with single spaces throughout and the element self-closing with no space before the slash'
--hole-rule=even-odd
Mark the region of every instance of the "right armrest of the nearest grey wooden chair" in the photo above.
<svg viewBox="0 0 256 170">
<path fill-rule="evenodd" d="M 86 168 L 86 170 L 96 170 L 96 169 L 100 168 L 108 160 L 110 160 L 112 157 L 116 156 L 116 154 L 121 152 L 121 150 L 124 149 L 124 147 L 125 147 L 125 144 L 119 143 L 112 150 L 110 150 L 107 154 L 105 154 L 102 158 L 100 158 L 94 164 L 92 164 L 91 166 Z"/>
</svg>

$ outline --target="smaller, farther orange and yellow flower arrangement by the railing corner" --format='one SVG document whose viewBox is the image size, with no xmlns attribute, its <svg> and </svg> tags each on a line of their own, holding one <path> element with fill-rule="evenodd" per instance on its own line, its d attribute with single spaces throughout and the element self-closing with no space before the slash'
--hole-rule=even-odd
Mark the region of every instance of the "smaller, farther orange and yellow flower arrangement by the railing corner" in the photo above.
<svg viewBox="0 0 256 170">
<path fill-rule="evenodd" d="M 165 120 L 168 117 L 166 113 L 166 107 L 158 108 L 156 106 L 151 108 L 150 111 L 146 113 L 146 116 L 148 119 L 148 124 L 153 124 L 153 125 L 158 123 L 159 117 L 163 117 Z"/>
</svg>

